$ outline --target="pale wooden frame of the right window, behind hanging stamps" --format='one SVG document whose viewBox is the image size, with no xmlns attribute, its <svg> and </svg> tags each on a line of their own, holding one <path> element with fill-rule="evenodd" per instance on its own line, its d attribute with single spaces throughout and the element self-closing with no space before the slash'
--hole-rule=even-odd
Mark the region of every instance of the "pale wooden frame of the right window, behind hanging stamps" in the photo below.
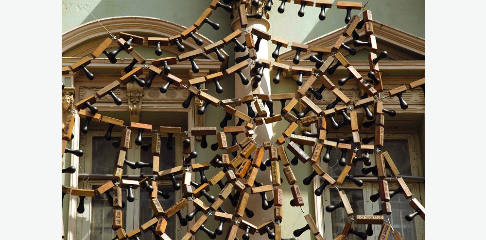
<svg viewBox="0 0 486 240">
<path fill-rule="evenodd" d="M 316 126 L 311 125 L 311 132 L 317 132 Z M 373 132 L 360 132 L 360 138 L 364 137 L 371 137 L 374 136 Z M 339 130 L 337 132 L 328 133 L 326 138 L 349 138 L 351 137 L 351 133 L 347 131 Z M 385 131 L 384 139 L 406 139 L 408 141 L 408 151 L 410 156 L 410 170 L 412 176 L 424 177 L 423 171 L 423 159 L 421 155 L 421 148 L 420 148 L 420 138 L 415 129 L 408 129 L 408 128 L 390 128 Z M 370 144 L 373 144 L 371 142 Z M 370 154 L 370 159 L 372 164 L 370 167 L 375 166 L 375 154 Z M 347 154 L 347 157 L 349 155 Z M 322 156 L 321 156 L 322 157 Z M 332 160 L 331 160 L 332 162 Z M 329 172 L 329 164 L 323 164 L 321 168 L 328 173 Z M 381 205 L 379 204 L 380 200 L 376 202 L 371 202 L 369 200 L 369 196 L 378 192 L 378 180 L 376 176 L 366 176 L 366 177 L 356 177 L 357 179 L 363 180 L 363 186 L 358 187 L 354 183 L 350 181 L 345 181 L 340 189 L 363 189 L 363 196 L 364 196 L 364 212 L 366 215 L 373 215 L 374 212 L 377 212 L 381 209 Z M 416 180 L 416 179 L 405 179 L 407 186 L 410 188 L 413 197 L 417 198 L 417 200 L 425 206 L 425 180 Z M 313 190 L 315 191 L 319 188 L 323 183 L 322 177 L 315 176 L 313 181 Z M 397 189 L 398 186 L 395 183 L 394 179 L 388 178 L 389 189 Z M 375 189 L 376 188 L 376 189 Z M 398 193 L 401 194 L 401 193 Z M 325 240 L 332 240 L 332 224 L 325 224 L 331 223 L 331 215 L 328 213 L 325 208 L 326 206 L 330 205 L 330 190 L 329 186 L 325 188 L 325 191 L 322 193 L 321 196 L 316 196 L 314 194 L 314 206 L 315 206 L 315 216 L 316 216 L 316 225 L 322 233 L 322 236 Z M 376 210 L 375 210 L 376 209 Z M 410 213 L 412 213 L 412 209 Z M 393 214 L 393 213 L 392 213 Z M 385 216 L 386 218 L 386 216 Z M 424 240 L 425 239 L 425 227 L 423 221 L 414 221 L 415 228 L 417 233 L 417 240 Z M 369 237 L 368 240 L 377 240 L 377 232 L 380 232 L 380 226 L 376 225 L 373 226 L 373 236 Z"/>
</svg>

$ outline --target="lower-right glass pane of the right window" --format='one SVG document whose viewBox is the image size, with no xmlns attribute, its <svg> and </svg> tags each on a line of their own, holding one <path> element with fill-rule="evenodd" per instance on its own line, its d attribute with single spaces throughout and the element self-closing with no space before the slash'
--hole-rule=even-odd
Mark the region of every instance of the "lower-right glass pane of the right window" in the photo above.
<svg viewBox="0 0 486 240">
<path fill-rule="evenodd" d="M 407 222 L 405 220 L 405 216 L 413 212 L 408 203 L 409 201 L 401 193 L 391 198 L 392 214 L 389 218 L 393 229 L 399 231 L 403 239 L 416 239 L 415 221 Z M 386 220 L 386 216 L 384 217 Z"/>
</svg>

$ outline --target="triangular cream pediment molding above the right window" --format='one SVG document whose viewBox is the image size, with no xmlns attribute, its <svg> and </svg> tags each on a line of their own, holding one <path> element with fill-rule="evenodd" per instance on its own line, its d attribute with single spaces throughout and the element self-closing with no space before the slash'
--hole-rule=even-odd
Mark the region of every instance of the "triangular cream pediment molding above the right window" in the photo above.
<svg viewBox="0 0 486 240">
<path fill-rule="evenodd" d="M 336 42 L 336 39 L 342 35 L 343 29 L 345 27 L 336 29 L 332 32 L 324 34 L 320 37 L 314 38 L 304 44 L 312 45 L 312 46 L 322 46 L 322 47 L 332 47 Z M 357 30 L 360 36 L 364 35 L 364 28 Z M 405 50 L 413 53 L 413 54 L 406 54 L 409 59 L 406 60 L 422 60 L 425 56 L 425 39 L 420 38 L 414 34 L 401 31 L 397 28 L 391 27 L 389 25 L 383 24 L 378 21 L 373 20 L 373 34 L 376 36 L 377 41 L 384 41 L 391 45 L 394 45 L 398 48 L 404 48 Z M 346 45 L 352 45 L 353 42 L 352 37 L 348 37 L 345 40 Z M 352 46 L 351 46 L 352 47 Z M 358 48 L 355 48 L 358 50 Z M 339 52 L 343 53 L 344 56 L 348 55 L 347 51 L 344 49 L 340 49 Z M 308 59 L 311 55 L 314 55 L 313 52 L 303 52 L 300 54 L 301 59 Z M 415 56 L 414 56 L 415 54 Z M 292 60 L 295 56 L 295 50 L 289 50 L 282 54 L 280 54 L 279 58 L 282 60 Z M 391 57 L 391 56 L 390 56 Z M 417 59 L 421 58 L 421 59 Z M 404 55 L 400 55 L 402 60 Z M 380 62 L 380 67 L 381 67 Z"/>
</svg>

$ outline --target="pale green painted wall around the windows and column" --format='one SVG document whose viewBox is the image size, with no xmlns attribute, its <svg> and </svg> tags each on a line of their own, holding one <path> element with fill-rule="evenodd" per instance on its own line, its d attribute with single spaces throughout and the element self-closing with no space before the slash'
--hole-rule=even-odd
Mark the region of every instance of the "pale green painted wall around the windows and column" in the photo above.
<svg viewBox="0 0 486 240">
<path fill-rule="evenodd" d="M 364 2 L 364 0 L 363 0 Z M 157 17 L 164 20 L 172 21 L 176 24 L 183 26 L 191 26 L 197 17 L 208 7 L 210 0 L 83 0 L 80 4 L 78 0 L 63 0 L 62 1 L 62 31 L 66 32 L 72 28 L 75 28 L 81 24 L 87 23 L 94 20 L 93 16 L 89 14 L 91 12 L 98 19 L 112 16 L 150 16 Z M 346 11 L 343 9 L 332 9 L 326 10 L 326 20 L 320 21 L 317 16 L 319 15 L 320 8 L 316 7 L 306 7 L 305 16 L 298 17 L 297 11 L 299 10 L 299 5 L 289 2 L 285 6 L 285 13 L 279 14 L 277 8 L 280 5 L 279 0 L 274 0 L 274 5 L 272 7 L 270 23 L 271 27 L 268 31 L 270 34 L 275 34 L 279 37 L 288 39 L 290 42 L 307 42 L 328 32 L 334 31 L 338 28 L 345 26 L 344 17 L 346 16 Z M 85 9 L 86 8 L 86 9 Z M 424 16 L 425 7 L 423 0 L 370 0 L 367 9 L 373 11 L 373 19 L 384 24 L 390 25 L 392 27 L 398 28 L 404 32 L 409 32 L 415 34 L 419 37 L 425 37 L 424 28 Z M 89 12 L 88 12 L 89 11 Z M 360 11 L 353 10 L 352 15 L 359 14 Z M 203 25 L 203 27 L 198 31 L 212 41 L 218 41 L 227 36 L 230 32 L 230 23 L 232 20 L 229 19 L 229 13 L 222 9 L 214 11 L 210 19 L 214 22 L 220 24 L 221 28 L 219 31 L 214 31 L 208 25 Z M 225 51 L 230 55 L 229 63 L 234 63 L 234 45 L 230 44 L 225 49 Z M 275 46 L 268 43 L 269 56 L 275 49 Z M 138 50 L 138 49 L 137 49 Z M 145 50 L 145 49 L 144 49 Z M 287 51 L 281 48 L 280 52 Z M 155 58 L 155 54 L 145 51 L 140 51 L 140 53 L 146 58 Z M 127 57 L 128 55 L 122 55 L 120 57 Z M 148 55 L 145 55 L 148 54 Z M 367 59 L 366 56 L 361 56 L 363 54 L 359 53 L 356 56 L 350 56 L 350 60 L 364 60 Z M 273 61 L 272 58 L 270 60 Z M 386 59 L 389 60 L 389 59 Z M 270 73 L 270 78 L 275 76 L 275 72 Z M 214 85 L 210 84 L 208 86 L 208 93 L 217 96 L 220 99 L 231 98 L 234 96 L 234 78 L 231 77 L 221 82 L 225 91 L 223 94 L 218 95 L 215 92 Z M 278 85 L 272 84 L 272 93 L 287 93 L 294 91 L 296 92 L 296 85 L 293 80 L 281 79 Z M 280 103 L 274 103 L 275 112 L 279 112 Z M 206 114 L 206 126 L 217 126 L 218 130 L 219 123 L 224 117 L 224 112 L 216 110 L 214 107 L 209 106 Z M 229 126 L 234 126 L 234 119 L 228 123 Z M 274 124 L 275 132 L 282 132 L 286 126 L 282 123 Z M 227 136 L 228 141 L 231 141 L 231 136 Z M 276 137 L 278 137 L 276 135 Z M 211 136 L 208 137 L 208 144 L 213 144 L 216 142 L 216 138 Z M 215 152 L 210 150 L 209 146 L 206 149 L 201 149 L 199 142 L 196 143 L 196 151 L 200 157 L 197 161 L 208 161 L 213 158 Z M 307 153 L 312 152 L 312 150 L 307 147 Z M 293 154 L 288 152 L 289 158 L 293 158 Z M 305 186 L 301 184 L 304 177 L 308 176 L 312 170 L 308 164 L 300 163 L 298 167 L 293 167 L 295 176 L 299 179 L 299 186 L 301 187 L 304 200 L 306 201 L 306 206 L 304 210 L 306 213 L 311 213 L 314 215 L 313 206 L 313 189 L 312 184 L 310 186 Z M 206 171 L 206 176 L 212 176 L 216 171 L 208 170 Z M 282 178 L 284 178 L 283 172 L 281 172 Z M 199 174 L 195 174 L 196 179 L 199 179 Z M 284 202 L 286 206 L 284 207 L 285 219 L 288 222 L 284 222 L 284 228 L 282 229 L 282 236 L 293 237 L 292 231 L 295 228 L 300 228 L 304 224 L 304 214 L 298 208 L 293 208 L 288 205 L 288 202 L 292 199 L 292 194 L 288 184 L 284 179 L 282 183 L 284 187 Z M 220 191 L 219 187 L 212 187 L 209 192 L 212 195 L 217 195 Z M 253 196 L 258 197 L 260 196 Z M 270 197 L 271 198 L 271 197 Z M 260 203 L 260 200 L 258 201 Z M 229 203 L 223 205 L 224 209 L 231 209 L 232 206 Z M 261 211 L 260 204 L 258 206 L 251 206 L 254 211 Z M 267 210 L 269 218 L 265 219 L 268 221 L 273 218 L 273 208 Z M 67 216 L 65 216 L 67 217 Z M 197 217 L 196 217 L 197 218 Z M 296 221 L 297 224 L 291 223 Z M 260 221 L 259 221 L 260 222 Z M 262 221 L 263 222 L 263 221 Z M 208 221 L 206 226 L 214 230 L 217 227 L 216 221 Z M 225 230 L 229 227 L 229 224 L 225 224 Z M 203 235 L 201 235 L 203 234 Z M 204 233 L 198 233 L 198 239 L 207 239 Z M 241 234 L 238 235 L 241 238 Z M 221 239 L 222 237 L 218 237 Z M 254 236 L 252 239 L 256 239 Z M 266 238 L 266 237 L 265 237 Z M 313 240 L 310 232 L 307 232 L 299 237 L 299 240 Z"/>
</svg>

